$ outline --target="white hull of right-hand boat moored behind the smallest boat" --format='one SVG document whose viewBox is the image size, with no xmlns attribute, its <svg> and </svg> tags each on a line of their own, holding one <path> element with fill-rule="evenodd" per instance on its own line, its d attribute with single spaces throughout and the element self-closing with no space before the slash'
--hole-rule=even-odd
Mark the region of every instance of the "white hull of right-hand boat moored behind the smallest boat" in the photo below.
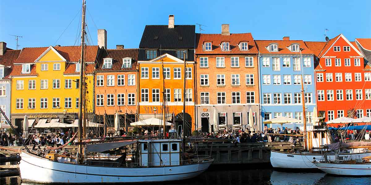
<svg viewBox="0 0 371 185">
<path fill-rule="evenodd" d="M 370 156 L 371 152 L 339 154 L 344 159 L 359 159 Z M 270 164 L 274 168 L 294 168 L 294 169 L 316 169 L 317 167 L 312 163 L 313 158 L 316 161 L 324 161 L 322 154 L 296 154 L 288 152 L 270 151 Z M 334 160 L 335 154 L 328 154 L 327 159 Z"/>
</svg>

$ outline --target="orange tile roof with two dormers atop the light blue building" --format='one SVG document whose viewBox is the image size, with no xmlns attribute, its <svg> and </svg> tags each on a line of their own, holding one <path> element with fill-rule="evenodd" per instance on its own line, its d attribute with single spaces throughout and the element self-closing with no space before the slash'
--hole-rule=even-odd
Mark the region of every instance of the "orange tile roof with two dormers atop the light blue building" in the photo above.
<svg viewBox="0 0 371 185">
<path fill-rule="evenodd" d="M 302 40 L 255 40 L 256 45 L 261 54 L 300 54 L 300 52 L 292 52 L 288 49 L 291 44 L 297 43 L 302 49 L 302 54 L 313 54 Z M 269 44 L 276 43 L 278 44 L 278 52 L 270 52 L 267 50 Z"/>
</svg>

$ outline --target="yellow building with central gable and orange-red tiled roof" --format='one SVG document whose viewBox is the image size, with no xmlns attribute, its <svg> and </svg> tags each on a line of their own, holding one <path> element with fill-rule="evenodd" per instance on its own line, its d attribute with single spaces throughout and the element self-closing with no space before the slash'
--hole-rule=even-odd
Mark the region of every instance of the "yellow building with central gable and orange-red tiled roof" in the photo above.
<svg viewBox="0 0 371 185">
<path fill-rule="evenodd" d="M 98 50 L 98 46 L 85 48 L 88 113 L 94 107 L 92 72 Z M 25 115 L 29 127 L 52 119 L 65 123 L 78 119 L 80 58 L 80 46 L 23 48 L 10 74 L 12 123 L 22 127 Z"/>
</svg>

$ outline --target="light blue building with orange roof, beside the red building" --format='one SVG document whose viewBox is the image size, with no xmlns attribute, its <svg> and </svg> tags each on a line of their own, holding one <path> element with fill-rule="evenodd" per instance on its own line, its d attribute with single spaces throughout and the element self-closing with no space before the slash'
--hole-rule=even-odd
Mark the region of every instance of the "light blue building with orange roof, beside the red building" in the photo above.
<svg viewBox="0 0 371 185">
<path fill-rule="evenodd" d="M 314 55 L 302 40 L 256 40 L 259 48 L 259 98 L 262 122 L 278 116 L 302 120 L 301 76 L 304 82 L 304 99 L 307 125 L 310 125 L 316 106 Z M 263 124 L 281 127 L 279 124 Z M 284 124 L 296 128 L 302 122 Z"/>
</svg>

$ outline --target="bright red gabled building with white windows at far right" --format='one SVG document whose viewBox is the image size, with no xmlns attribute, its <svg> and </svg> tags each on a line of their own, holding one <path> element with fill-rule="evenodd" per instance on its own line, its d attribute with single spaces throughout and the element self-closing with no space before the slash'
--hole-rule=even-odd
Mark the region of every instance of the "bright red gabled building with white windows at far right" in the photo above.
<svg viewBox="0 0 371 185">
<path fill-rule="evenodd" d="M 369 64 L 355 42 L 342 34 L 328 42 L 306 42 L 316 53 L 317 110 L 325 121 L 371 117 Z M 349 116 L 348 116 L 349 115 Z"/>
</svg>

